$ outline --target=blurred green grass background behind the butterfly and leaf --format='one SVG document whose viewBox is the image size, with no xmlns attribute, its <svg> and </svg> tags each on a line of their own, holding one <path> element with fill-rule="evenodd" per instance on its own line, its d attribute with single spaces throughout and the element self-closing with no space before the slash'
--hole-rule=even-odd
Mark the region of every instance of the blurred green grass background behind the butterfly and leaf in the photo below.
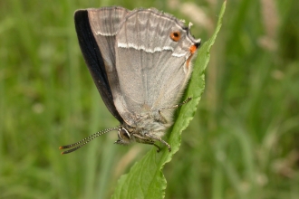
<svg viewBox="0 0 299 199">
<path fill-rule="evenodd" d="M 299 198 L 299 1 L 229 0 L 206 90 L 164 168 L 166 198 Z M 118 125 L 82 59 L 76 9 L 157 7 L 207 41 L 222 1 L 0 1 L 0 198 L 109 198 L 150 146 Z"/>
</svg>

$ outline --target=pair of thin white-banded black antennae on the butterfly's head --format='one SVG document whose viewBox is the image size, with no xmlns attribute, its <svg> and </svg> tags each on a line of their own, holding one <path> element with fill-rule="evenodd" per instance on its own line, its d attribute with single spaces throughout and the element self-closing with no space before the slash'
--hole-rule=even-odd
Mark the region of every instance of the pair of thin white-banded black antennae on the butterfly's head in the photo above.
<svg viewBox="0 0 299 199">
<path fill-rule="evenodd" d="M 63 151 L 62 152 L 62 155 L 63 154 L 69 154 L 69 153 L 72 153 L 73 151 L 83 147 L 84 145 L 86 145 L 87 143 L 89 143 L 90 141 L 92 141 L 92 139 L 96 138 L 96 137 L 99 137 L 105 133 L 108 133 L 112 130 L 118 130 L 120 127 L 117 127 L 117 128 L 107 128 L 107 129 L 104 129 L 104 130 L 101 130 L 97 133 L 94 133 L 92 134 L 92 136 L 89 136 L 89 137 L 85 137 L 83 138 L 82 140 L 80 140 L 79 142 L 76 142 L 76 143 L 73 143 L 71 145 L 65 145 L 65 146 L 62 146 L 62 147 L 59 147 L 59 149 L 66 149 L 66 148 L 71 148 L 69 150 L 66 150 L 66 151 Z"/>
</svg>

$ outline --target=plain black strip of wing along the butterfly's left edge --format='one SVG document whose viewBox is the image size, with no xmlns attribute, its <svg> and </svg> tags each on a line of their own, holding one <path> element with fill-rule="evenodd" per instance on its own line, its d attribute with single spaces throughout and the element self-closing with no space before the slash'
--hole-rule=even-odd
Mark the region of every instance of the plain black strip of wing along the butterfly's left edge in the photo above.
<svg viewBox="0 0 299 199">
<path fill-rule="evenodd" d="M 101 99 L 104 101 L 111 114 L 122 123 L 123 119 L 115 108 L 113 102 L 111 87 L 107 78 L 101 51 L 92 33 L 88 11 L 76 11 L 74 14 L 74 23 L 84 60 L 91 72 L 92 79 L 101 94 Z"/>
</svg>

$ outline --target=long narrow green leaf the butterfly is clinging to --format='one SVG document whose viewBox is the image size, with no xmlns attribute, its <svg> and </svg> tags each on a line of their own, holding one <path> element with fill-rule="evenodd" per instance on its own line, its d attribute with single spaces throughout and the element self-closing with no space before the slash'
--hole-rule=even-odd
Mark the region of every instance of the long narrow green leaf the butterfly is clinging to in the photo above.
<svg viewBox="0 0 299 199">
<path fill-rule="evenodd" d="M 129 174 L 121 176 L 112 198 L 164 198 L 167 183 L 162 169 L 178 151 L 181 142 L 181 132 L 188 127 L 205 89 L 204 72 L 209 61 L 210 49 L 220 30 L 225 9 L 226 1 L 222 5 L 215 33 L 202 45 L 198 52 L 198 58 L 185 94 L 185 98 L 191 97 L 192 100 L 181 107 L 178 118 L 172 128 L 168 140 L 172 147 L 171 152 L 169 153 L 167 147 L 163 147 L 162 151 L 157 153 L 156 148 L 153 147 L 147 155 L 131 167 Z"/>
</svg>

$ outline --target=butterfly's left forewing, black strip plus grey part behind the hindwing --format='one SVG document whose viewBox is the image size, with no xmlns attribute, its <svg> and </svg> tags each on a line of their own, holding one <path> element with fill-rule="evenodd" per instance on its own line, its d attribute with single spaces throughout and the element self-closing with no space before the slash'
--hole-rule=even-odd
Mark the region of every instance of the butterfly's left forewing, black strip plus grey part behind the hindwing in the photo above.
<svg viewBox="0 0 299 199">
<path fill-rule="evenodd" d="M 121 7 L 106 7 L 78 10 L 74 14 L 78 40 L 92 79 L 106 107 L 121 122 L 123 119 L 114 106 L 108 76 L 115 72 L 115 35 L 127 12 Z"/>
</svg>

